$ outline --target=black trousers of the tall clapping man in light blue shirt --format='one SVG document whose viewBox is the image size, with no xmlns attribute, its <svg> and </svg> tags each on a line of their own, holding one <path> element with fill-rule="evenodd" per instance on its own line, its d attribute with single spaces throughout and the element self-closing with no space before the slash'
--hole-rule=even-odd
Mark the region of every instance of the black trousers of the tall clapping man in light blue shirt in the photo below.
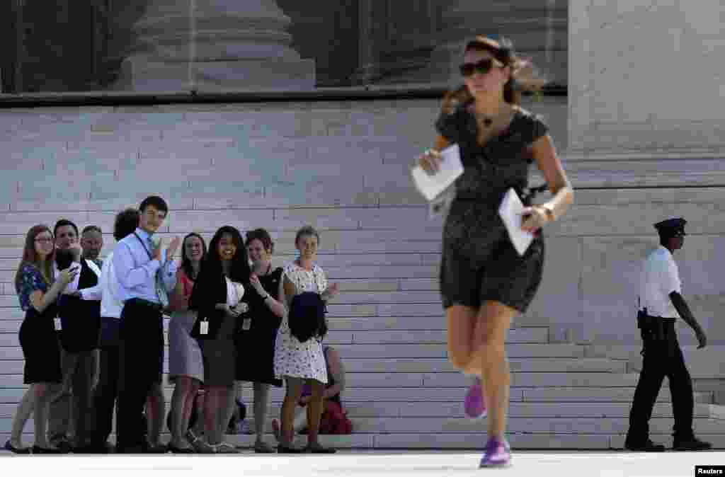
<svg viewBox="0 0 725 477">
<path fill-rule="evenodd" d="M 128 300 L 121 312 L 119 334 L 117 449 L 137 451 L 146 440 L 139 416 L 161 372 L 164 329 L 160 308 Z"/>
</svg>

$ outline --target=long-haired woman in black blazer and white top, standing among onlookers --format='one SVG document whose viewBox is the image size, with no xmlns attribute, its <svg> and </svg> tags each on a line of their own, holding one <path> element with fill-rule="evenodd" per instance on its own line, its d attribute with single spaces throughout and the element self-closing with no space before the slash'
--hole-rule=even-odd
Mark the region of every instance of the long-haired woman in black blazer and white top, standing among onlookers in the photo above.
<svg viewBox="0 0 725 477">
<path fill-rule="evenodd" d="M 246 318 L 243 302 L 249 289 L 247 248 L 241 233 L 225 225 L 215 233 L 191 291 L 189 309 L 198 312 L 191 336 L 199 340 L 204 360 L 204 435 L 207 452 L 232 453 L 236 448 L 222 441 L 229 393 L 236 374 L 234 336 Z"/>
</svg>

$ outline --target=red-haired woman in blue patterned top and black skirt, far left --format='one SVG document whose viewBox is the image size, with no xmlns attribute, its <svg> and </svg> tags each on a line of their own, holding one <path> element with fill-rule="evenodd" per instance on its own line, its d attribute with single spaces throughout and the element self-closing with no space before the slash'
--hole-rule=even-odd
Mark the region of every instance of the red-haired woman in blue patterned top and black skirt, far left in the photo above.
<svg viewBox="0 0 725 477">
<path fill-rule="evenodd" d="M 53 280 L 53 258 L 55 241 L 47 225 L 30 228 L 25 237 L 20 267 L 15 275 L 15 291 L 20 307 L 25 310 L 25 319 L 20 325 L 20 347 L 25 357 L 23 383 L 30 384 L 17 406 L 12 420 L 10 439 L 5 449 L 18 454 L 29 454 L 30 449 L 22 447 L 22 428 L 33 414 L 35 422 L 35 444 L 33 454 L 59 454 L 62 451 L 51 447 L 46 436 L 49 403 L 60 391 L 62 373 L 60 370 L 60 344 L 56 330 L 59 318 L 56 302 L 58 296 L 70 283 L 78 269 L 65 269 Z"/>
</svg>

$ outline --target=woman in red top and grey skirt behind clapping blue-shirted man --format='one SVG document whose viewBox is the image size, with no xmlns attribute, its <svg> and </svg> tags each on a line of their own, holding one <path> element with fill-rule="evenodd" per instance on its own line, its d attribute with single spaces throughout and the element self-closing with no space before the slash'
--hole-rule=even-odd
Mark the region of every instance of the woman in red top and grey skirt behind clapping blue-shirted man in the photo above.
<svg viewBox="0 0 725 477">
<path fill-rule="evenodd" d="M 171 452 L 194 452 L 184 436 L 194 407 L 194 397 L 204 382 L 204 362 L 199 342 L 191 338 L 196 313 L 188 310 L 188 299 L 206 253 L 207 245 L 198 233 L 184 237 L 176 288 L 169 297 L 172 311 L 169 322 L 169 382 L 175 383 L 170 411 Z"/>
</svg>

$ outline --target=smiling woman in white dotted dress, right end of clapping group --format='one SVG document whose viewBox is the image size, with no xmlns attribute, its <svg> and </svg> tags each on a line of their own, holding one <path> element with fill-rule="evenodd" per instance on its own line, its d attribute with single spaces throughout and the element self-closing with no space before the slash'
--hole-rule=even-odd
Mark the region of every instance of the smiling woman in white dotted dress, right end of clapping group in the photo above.
<svg viewBox="0 0 725 477">
<path fill-rule="evenodd" d="M 327 302 L 339 292 L 337 284 L 328 287 L 327 277 L 321 267 L 315 264 L 320 235 L 312 227 L 303 227 L 297 232 L 294 244 L 299 250 L 299 257 L 284 267 L 283 279 L 280 283 L 280 295 L 289 310 L 294 296 L 305 291 L 320 294 Z M 278 452 L 314 452 L 331 453 L 334 449 L 323 447 L 318 442 L 320 416 L 323 409 L 323 392 L 327 383 L 327 368 L 322 344 L 316 337 L 300 343 L 289 329 L 288 314 L 282 318 L 275 343 L 274 368 L 276 378 L 286 381 L 286 394 L 281 410 L 281 435 L 279 436 Z M 308 407 L 309 434 L 307 448 L 299 449 L 292 446 L 294 439 L 294 408 L 302 396 L 302 387 L 307 384 L 312 389 L 312 398 Z"/>
</svg>

